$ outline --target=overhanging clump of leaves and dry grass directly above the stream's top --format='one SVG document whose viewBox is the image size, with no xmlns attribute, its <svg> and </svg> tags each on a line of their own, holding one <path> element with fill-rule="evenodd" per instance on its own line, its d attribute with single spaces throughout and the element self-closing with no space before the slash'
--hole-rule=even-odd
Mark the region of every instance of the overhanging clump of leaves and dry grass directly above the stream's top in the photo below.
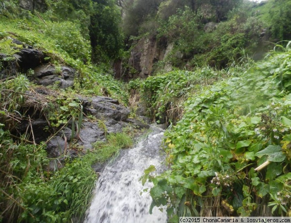
<svg viewBox="0 0 291 223">
<path fill-rule="evenodd" d="M 149 108 L 148 114 L 176 124 L 183 113 L 183 102 L 191 92 L 207 86 L 214 81 L 228 76 L 227 71 L 214 71 L 210 67 L 197 68 L 195 72 L 173 71 L 150 76 L 136 85 L 136 80 L 129 82 L 131 89 L 141 89 L 143 103 Z"/>
</svg>

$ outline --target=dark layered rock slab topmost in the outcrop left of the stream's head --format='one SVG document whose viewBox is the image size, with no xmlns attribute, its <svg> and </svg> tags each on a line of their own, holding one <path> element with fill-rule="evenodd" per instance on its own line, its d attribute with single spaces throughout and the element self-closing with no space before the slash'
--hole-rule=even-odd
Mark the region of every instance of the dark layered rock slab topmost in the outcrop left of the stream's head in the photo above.
<svg viewBox="0 0 291 223">
<path fill-rule="evenodd" d="M 124 121 L 129 116 L 129 109 L 120 105 L 117 100 L 103 96 L 93 97 L 91 107 L 86 107 L 84 110 L 101 120 Z"/>
</svg>

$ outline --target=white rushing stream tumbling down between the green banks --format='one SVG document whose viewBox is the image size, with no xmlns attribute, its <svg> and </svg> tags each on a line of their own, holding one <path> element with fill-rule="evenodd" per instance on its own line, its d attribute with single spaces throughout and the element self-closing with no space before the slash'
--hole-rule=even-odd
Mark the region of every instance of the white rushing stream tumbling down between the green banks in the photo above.
<svg viewBox="0 0 291 223">
<path fill-rule="evenodd" d="M 114 163 L 105 167 L 97 181 L 96 191 L 85 223 L 166 223 L 165 210 L 158 208 L 149 214 L 151 197 L 142 193 L 151 183 L 142 185 L 139 178 L 150 165 L 157 172 L 164 170 L 162 129 L 152 126 L 146 138 L 133 149 L 123 149 Z"/>
</svg>

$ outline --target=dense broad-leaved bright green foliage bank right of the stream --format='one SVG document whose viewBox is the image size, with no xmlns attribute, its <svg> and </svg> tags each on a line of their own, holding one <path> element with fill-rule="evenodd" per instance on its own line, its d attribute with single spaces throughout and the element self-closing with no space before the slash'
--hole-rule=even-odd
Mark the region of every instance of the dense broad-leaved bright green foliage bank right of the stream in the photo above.
<svg viewBox="0 0 291 223">
<path fill-rule="evenodd" d="M 145 171 L 155 185 L 151 208 L 170 201 L 170 222 L 290 216 L 290 45 L 189 94 L 183 118 L 165 133 L 171 169 Z"/>
</svg>

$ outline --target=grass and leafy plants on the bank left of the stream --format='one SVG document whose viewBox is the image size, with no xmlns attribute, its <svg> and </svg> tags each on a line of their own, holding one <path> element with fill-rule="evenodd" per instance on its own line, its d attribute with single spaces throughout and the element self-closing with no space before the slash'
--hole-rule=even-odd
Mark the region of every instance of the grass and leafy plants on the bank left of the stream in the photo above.
<svg viewBox="0 0 291 223">
<path fill-rule="evenodd" d="M 64 155 L 49 159 L 44 144 L 16 145 L 8 132 L 0 134 L 1 217 L 9 222 L 80 222 L 97 178 L 91 165 L 132 146 L 128 134 L 109 134 L 108 142 L 73 161 Z M 49 164 L 57 168 L 61 161 L 65 167 L 49 172 Z"/>
</svg>

